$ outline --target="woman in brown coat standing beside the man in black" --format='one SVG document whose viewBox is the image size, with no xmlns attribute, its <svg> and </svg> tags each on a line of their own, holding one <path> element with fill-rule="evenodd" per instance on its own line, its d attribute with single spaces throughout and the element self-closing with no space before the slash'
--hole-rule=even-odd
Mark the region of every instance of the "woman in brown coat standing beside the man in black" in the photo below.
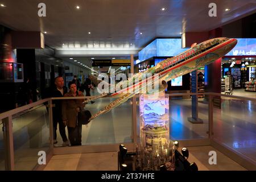
<svg viewBox="0 0 256 182">
<path fill-rule="evenodd" d="M 69 92 L 64 97 L 81 97 L 84 94 L 77 90 L 75 82 L 69 82 Z M 77 114 L 84 110 L 84 99 L 63 100 L 62 117 L 64 125 L 68 126 L 68 138 L 71 146 L 80 146 L 82 140 L 82 125 L 77 121 Z"/>
</svg>

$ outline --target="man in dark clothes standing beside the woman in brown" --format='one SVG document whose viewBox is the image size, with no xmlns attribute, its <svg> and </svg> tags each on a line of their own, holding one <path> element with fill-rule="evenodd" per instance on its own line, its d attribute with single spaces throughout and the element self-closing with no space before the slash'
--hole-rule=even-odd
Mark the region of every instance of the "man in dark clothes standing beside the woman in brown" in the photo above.
<svg viewBox="0 0 256 182">
<path fill-rule="evenodd" d="M 63 97 L 65 93 L 67 93 L 67 87 L 64 86 L 63 77 L 58 76 L 55 78 L 55 88 L 53 88 L 51 92 L 51 97 Z M 57 123 L 59 123 L 59 131 L 61 138 L 63 140 L 63 146 L 68 146 L 68 138 L 65 132 L 65 125 L 62 122 L 62 101 L 63 100 L 52 100 L 52 104 L 55 104 L 52 107 L 53 114 L 53 143 L 57 143 Z"/>
</svg>

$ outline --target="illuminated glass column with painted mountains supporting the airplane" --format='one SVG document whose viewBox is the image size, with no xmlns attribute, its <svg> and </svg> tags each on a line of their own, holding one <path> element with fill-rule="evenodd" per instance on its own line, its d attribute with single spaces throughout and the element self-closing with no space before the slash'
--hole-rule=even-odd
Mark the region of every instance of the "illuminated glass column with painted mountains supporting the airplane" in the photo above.
<svg viewBox="0 0 256 182">
<path fill-rule="evenodd" d="M 168 163 L 175 169 L 174 142 L 170 140 L 169 97 L 164 92 L 139 97 L 141 167 L 159 170 Z"/>
</svg>

